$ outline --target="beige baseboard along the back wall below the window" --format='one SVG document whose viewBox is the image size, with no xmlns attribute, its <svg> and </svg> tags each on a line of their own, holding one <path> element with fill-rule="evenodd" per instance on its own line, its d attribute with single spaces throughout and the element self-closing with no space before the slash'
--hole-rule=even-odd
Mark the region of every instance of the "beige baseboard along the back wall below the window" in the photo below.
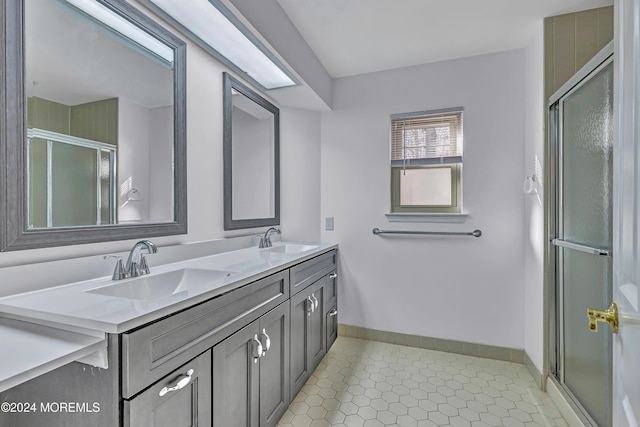
<svg viewBox="0 0 640 427">
<path fill-rule="evenodd" d="M 442 338 L 423 337 L 420 335 L 400 334 L 397 332 L 380 331 L 338 324 L 338 335 L 344 337 L 361 338 L 389 344 L 406 345 L 409 347 L 425 348 L 428 350 L 446 351 L 448 353 L 464 354 L 466 356 L 482 357 L 485 359 L 503 360 L 513 363 L 525 363 L 525 352 L 522 349 L 498 347 L 464 341 L 445 340 Z M 535 368 L 535 367 L 534 367 Z M 534 376 L 536 378 L 536 376 Z M 541 378 L 541 375 L 537 377 Z"/>
</svg>

